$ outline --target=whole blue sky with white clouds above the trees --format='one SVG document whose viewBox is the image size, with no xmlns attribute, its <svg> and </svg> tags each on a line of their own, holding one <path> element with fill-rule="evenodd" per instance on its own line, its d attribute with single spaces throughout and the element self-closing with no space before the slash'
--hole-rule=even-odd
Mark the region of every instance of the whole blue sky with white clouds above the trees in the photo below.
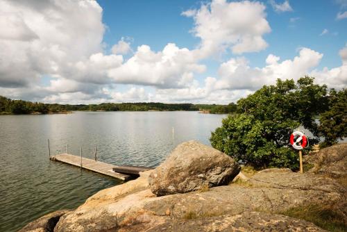
<svg viewBox="0 0 347 232">
<path fill-rule="evenodd" d="M 347 86 L 347 0 L 0 0 L 0 95 L 236 102 L 280 79 Z"/>
</svg>

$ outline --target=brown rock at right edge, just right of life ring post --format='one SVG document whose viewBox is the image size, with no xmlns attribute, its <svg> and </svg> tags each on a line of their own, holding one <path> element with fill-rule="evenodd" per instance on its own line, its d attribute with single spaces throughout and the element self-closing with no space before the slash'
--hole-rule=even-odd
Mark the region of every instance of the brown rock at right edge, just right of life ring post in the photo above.
<svg viewBox="0 0 347 232">
<path fill-rule="evenodd" d="M 304 157 L 304 162 L 314 165 L 309 172 L 347 178 L 347 142 L 312 152 Z"/>
</svg>

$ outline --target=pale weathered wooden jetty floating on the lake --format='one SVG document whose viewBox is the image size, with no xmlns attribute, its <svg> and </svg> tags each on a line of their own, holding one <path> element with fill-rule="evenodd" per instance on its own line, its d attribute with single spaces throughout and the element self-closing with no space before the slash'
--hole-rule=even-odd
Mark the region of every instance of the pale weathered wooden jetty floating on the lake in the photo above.
<svg viewBox="0 0 347 232">
<path fill-rule="evenodd" d="M 74 165 L 76 167 L 81 167 L 81 156 L 74 156 L 71 154 L 59 154 L 56 156 L 50 156 L 51 160 L 57 160 L 62 163 L 67 163 L 69 165 Z M 95 161 L 89 158 L 82 158 L 82 168 L 88 169 L 93 172 L 98 172 L 104 174 L 105 176 L 111 176 L 113 178 L 121 179 L 127 181 L 131 176 L 126 174 L 121 174 L 113 171 L 115 165 L 110 165 L 108 163 L 103 163 L 100 161 Z"/>
</svg>

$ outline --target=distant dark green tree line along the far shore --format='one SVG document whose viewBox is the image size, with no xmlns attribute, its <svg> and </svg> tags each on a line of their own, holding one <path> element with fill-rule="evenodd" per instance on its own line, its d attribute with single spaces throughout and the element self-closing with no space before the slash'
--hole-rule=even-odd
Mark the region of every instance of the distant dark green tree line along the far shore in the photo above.
<svg viewBox="0 0 347 232">
<path fill-rule="evenodd" d="M 89 111 L 198 111 L 209 110 L 211 113 L 232 113 L 236 110 L 235 103 L 231 105 L 203 105 L 192 103 L 158 103 L 158 102 L 139 102 L 139 103 L 100 103 L 100 104 L 58 104 L 58 103 L 40 103 L 23 100 L 12 100 L 0 96 L 0 113 L 1 114 L 48 114 L 48 113 L 65 113 L 76 110 Z"/>
</svg>

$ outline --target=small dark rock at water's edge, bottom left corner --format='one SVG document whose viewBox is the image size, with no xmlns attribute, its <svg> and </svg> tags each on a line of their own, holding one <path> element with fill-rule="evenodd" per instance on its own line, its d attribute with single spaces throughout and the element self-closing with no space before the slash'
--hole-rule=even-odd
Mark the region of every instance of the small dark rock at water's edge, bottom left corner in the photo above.
<svg viewBox="0 0 347 232">
<path fill-rule="evenodd" d="M 39 219 L 27 224 L 19 230 L 18 232 L 50 232 L 53 231 L 57 222 L 59 221 L 62 215 L 69 212 L 69 210 L 58 210 L 53 213 L 49 213 L 48 215 L 44 215 Z"/>
</svg>

